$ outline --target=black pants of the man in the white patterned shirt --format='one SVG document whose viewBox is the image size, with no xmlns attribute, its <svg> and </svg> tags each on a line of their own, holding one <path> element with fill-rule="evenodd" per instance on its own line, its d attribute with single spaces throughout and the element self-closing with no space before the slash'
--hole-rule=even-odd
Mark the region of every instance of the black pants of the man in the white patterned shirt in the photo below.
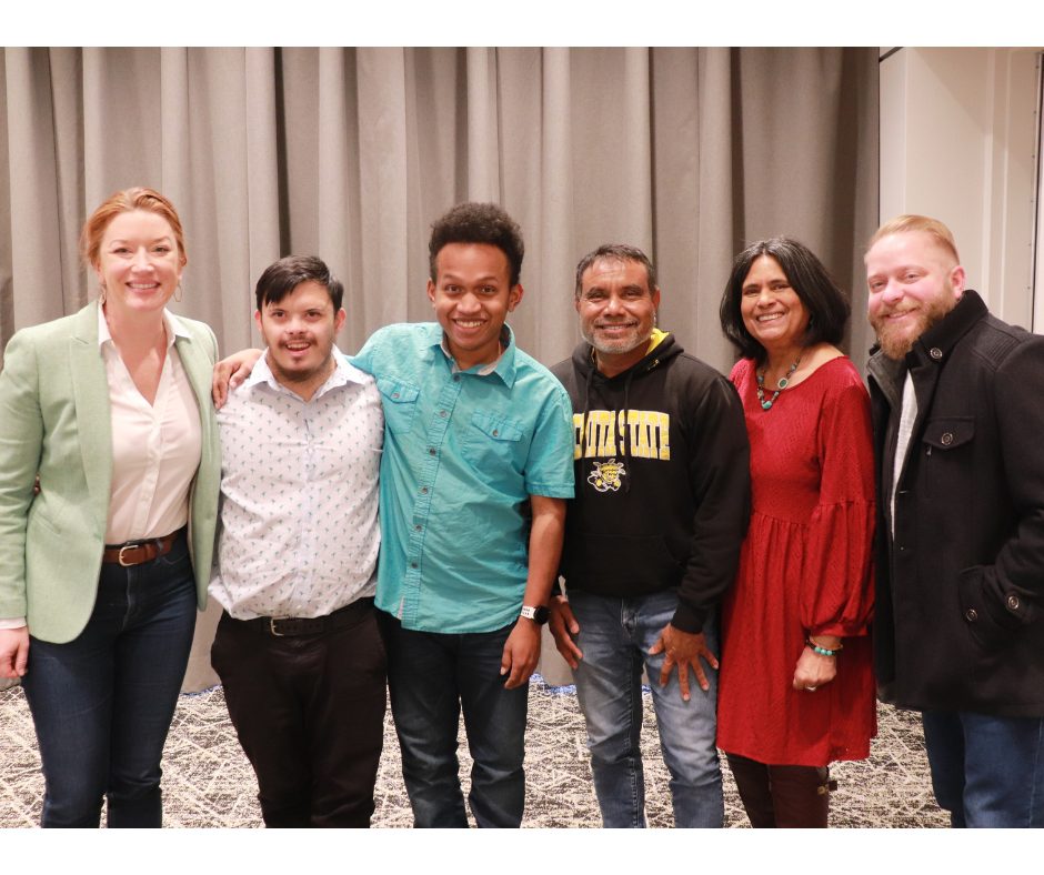
<svg viewBox="0 0 1044 875">
<path fill-rule="evenodd" d="M 351 623 L 273 636 L 261 624 L 218 624 L 211 662 L 240 744 L 258 776 L 269 827 L 370 825 L 384 738 L 385 662 L 372 600 Z"/>
</svg>

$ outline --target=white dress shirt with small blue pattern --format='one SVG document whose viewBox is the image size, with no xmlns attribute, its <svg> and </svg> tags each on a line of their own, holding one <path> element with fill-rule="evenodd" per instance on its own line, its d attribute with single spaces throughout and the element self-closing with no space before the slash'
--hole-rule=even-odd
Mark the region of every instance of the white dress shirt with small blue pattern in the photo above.
<svg viewBox="0 0 1044 875">
<path fill-rule="evenodd" d="M 218 412 L 210 594 L 237 620 L 325 616 L 374 593 L 381 401 L 372 378 L 335 359 L 304 401 L 277 382 L 265 354 Z"/>
</svg>

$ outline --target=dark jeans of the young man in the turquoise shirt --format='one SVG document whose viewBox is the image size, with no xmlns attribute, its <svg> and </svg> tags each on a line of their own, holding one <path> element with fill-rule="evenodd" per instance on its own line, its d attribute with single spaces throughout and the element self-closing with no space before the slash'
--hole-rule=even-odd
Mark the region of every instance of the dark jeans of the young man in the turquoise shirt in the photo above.
<svg viewBox="0 0 1044 875">
<path fill-rule="evenodd" d="M 513 624 L 496 632 L 449 635 L 405 630 L 384 612 L 378 616 L 414 826 L 468 826 L 456 758 L 462 708 L 474 760 L 468 802 L 475 823 L 519 826 L 525 803 L 529 686 L 504 690 L 500 674 Z"/>
</svg>

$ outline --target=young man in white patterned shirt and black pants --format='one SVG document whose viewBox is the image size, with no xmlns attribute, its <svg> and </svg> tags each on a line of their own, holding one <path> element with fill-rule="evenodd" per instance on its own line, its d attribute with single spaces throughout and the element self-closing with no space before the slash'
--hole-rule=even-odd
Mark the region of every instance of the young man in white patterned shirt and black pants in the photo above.
<svg viewBox="0 0 1044 875">
<path fill-rule="evenodd" d="M 257 286 L 264 356 L 229 394 L 211 657 L 265 826 L 369 826 L 384 721 L 373 594 L 383 441 L 373 378 L 333 352 L 343 286 L 289 257 Z"/>
</svg>

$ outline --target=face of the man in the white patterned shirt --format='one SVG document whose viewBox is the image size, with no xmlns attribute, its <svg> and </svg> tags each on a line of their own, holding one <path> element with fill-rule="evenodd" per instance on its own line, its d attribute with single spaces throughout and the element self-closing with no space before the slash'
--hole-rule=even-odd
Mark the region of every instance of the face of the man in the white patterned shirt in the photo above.
<svg viewBox="0 0 1044 875">
<path fill-rule="evenodd" d="M 268 345 L 272 375 L 308 400 L 333 370 L 333 341 L 344 324 L 344 310 L 334 310 L 330 293 L 315 280 L 294 286 L 280 301 L 254 312 Z"/>
</svg>

